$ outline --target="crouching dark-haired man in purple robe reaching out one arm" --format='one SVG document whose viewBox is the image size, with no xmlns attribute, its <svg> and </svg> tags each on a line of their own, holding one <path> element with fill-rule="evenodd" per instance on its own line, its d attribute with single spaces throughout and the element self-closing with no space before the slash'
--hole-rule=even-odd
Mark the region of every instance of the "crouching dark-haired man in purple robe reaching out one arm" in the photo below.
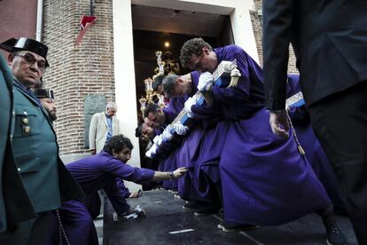
<svg viewBox="0 0 367 245">
<path fill-rule="evenodd" d="M 131 167 L 126 162 L 131 157 L 132 148 L 129 138 L 116 135 L 108 141 L 104 150 L 99 154 L 71 162 L 66 165 L 66 168 L 82 186 L 85 194 L 93 194 L 104 188 L 108 190 L 107 194 L 115 195 L 121 195 L 121 188 L 116 185 L 116 178 L 143 184 L 150 181 L 180 178 L 186 172 L 184 168 L 171 172 L 160 172 Z M 113 200 L 118 202 L 117 198 Z M 124 209 L 127 208 L 124 206 L 125 199 L 121 198 L 120 201 L 121 203 L 115 203 L 113 208 L 118 214 L 129 214 L 130 210 Z M 70 244 L 98 244 L 96 228 L 82 201 L 63 202 L 60 217 Z"/>
</svg>

